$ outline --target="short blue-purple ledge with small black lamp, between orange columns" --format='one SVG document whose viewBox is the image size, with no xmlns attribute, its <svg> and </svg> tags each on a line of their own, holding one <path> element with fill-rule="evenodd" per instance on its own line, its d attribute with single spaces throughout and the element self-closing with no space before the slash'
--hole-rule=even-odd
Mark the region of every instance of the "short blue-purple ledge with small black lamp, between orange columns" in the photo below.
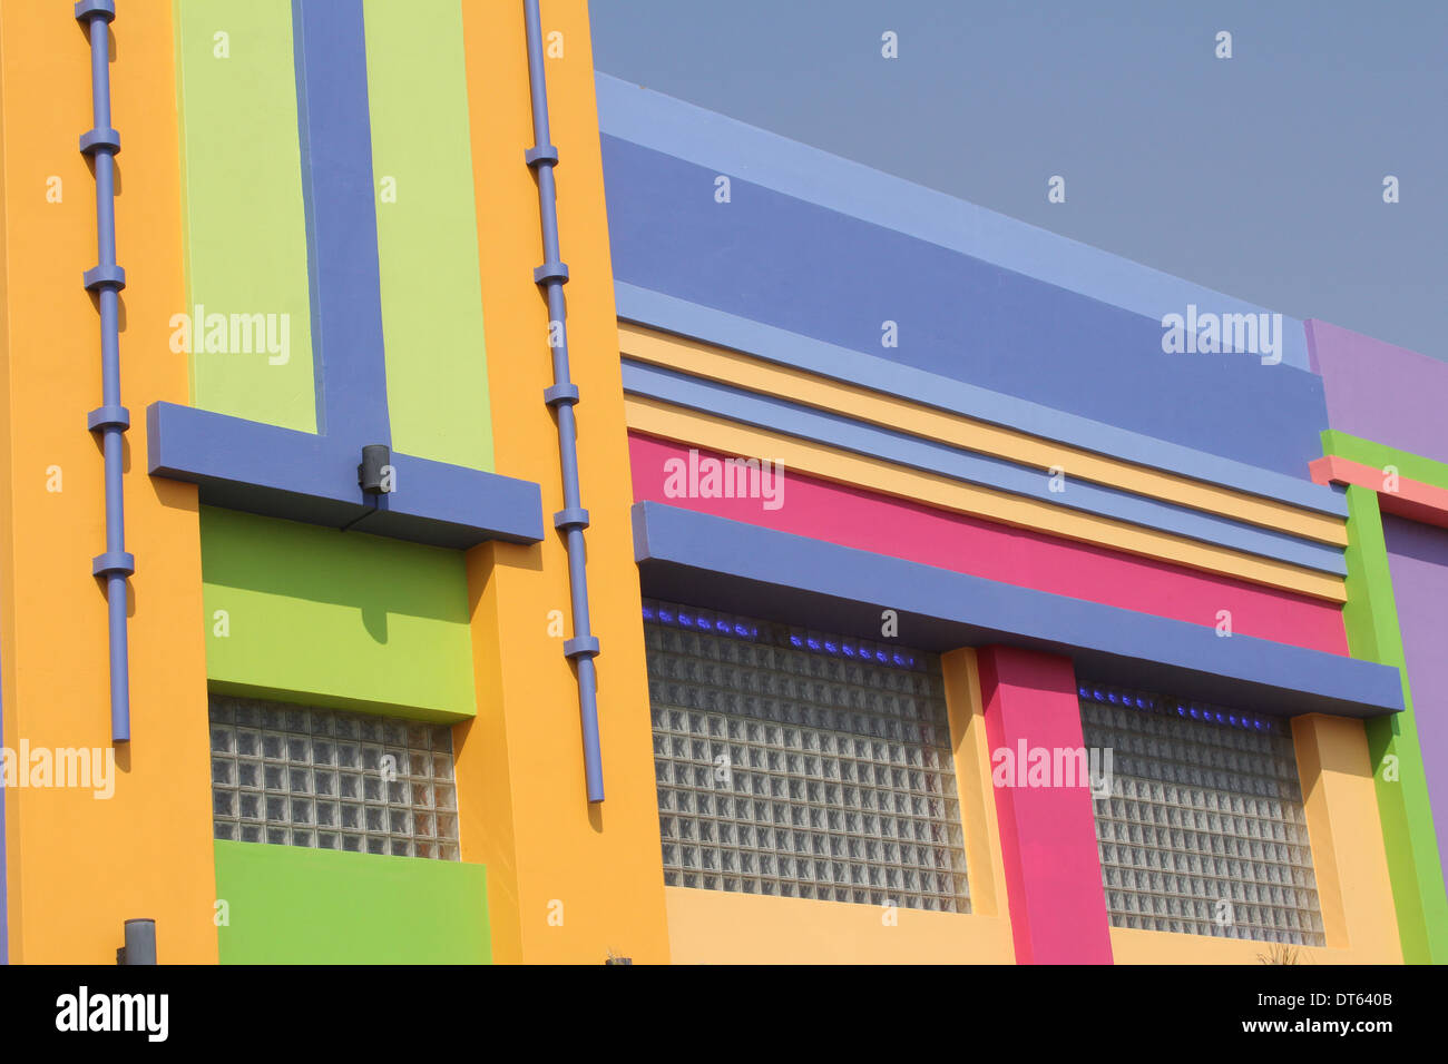
<svg viewBox="0 0 1448 1064">
<path fill-rule="evenodd" d="M 358 486 L 362 443 L 248 421 L 174 402 L 146 408 L 151 475 L 200 485 L 201 502 L 266 517 L 466 549 L 543 539 L 539 485 L 392 453 L 397 489 Z M 361 521 L 358 518 L 362 518 Z"/>
</svg>

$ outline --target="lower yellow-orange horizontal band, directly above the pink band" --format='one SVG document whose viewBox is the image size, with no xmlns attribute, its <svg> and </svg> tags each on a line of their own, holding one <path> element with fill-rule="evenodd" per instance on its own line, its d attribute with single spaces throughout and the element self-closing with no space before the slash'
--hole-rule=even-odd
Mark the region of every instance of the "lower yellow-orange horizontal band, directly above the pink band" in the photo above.
<svg viewBox="0 0 1448 1064">
<path fill-rule="evenodd" d="M 827 481 L 857 485 L 960 514 L 985 517 L 1080 543 L 1114 547 L 1131 554 L 1235 576 L 1283 591 L 1296 591 L 1331 602 L 1347 601 L 1341 576 L 1319 573 L 1287 562 L 1257 557 L 1239 550 L 1066 510 L 1038 499 L 963 484 L 938 473 L 850 455 L 811 440 L 752 428 L 714 414 L 682 410 L 641 395 L 627 395 L 624 407 L 628 427 L 653 436 L 730 455 L 767 457 L 783 462 L 786 469 L 796 469 Z"/>
</svg>

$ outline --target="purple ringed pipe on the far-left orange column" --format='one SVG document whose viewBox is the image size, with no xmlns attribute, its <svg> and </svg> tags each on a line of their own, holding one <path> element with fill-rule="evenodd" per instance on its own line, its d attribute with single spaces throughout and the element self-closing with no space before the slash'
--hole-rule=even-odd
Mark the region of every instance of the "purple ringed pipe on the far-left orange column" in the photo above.
<svg viewBox="0 0 1448 1064">
<path fill-rule="evenodd" d="M 106 456 L 106 553 L 91 572 L 106 580 L 110 621 L 110 738 L 130 741 L 130 664 L 126 649 L 126 580 L 136 559 L 126 553 L 126 512 L 122 495 L 122 433 L 130 411 L 120 405 L 120 290 L 126 271 L 116 265 L 116 152 L 120 133 L 110 124 L 110 30 L 114 0 L 80 0 L 75 19 L 85 26 L 91 45 L 91 110 L 94 127 L 81 136 L 81 153 L 96 168 L 96 259 L 85 271 L 85 290 L 100 304 L 101 405 L 87 417 L 87 427 L 101 434 Z"/>
</svg>

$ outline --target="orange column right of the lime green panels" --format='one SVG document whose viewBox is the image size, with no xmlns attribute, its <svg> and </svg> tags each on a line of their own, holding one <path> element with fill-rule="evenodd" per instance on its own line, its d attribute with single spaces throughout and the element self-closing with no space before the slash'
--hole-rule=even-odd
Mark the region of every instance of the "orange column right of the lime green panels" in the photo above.
<svg viewBox="0 0 1448 1064">
<path fill-rule="evenodd" d="M 463 860 L 488 866 L 495 960 L 598 964 L 613 951 L 659 963 L 669 960 L 663 866 L 586 4 L 544 3 L 543 32 L 553 30 L 563 56 L 546 62 L 549 110 L 572 378 L 582 392 L 607 799 L 586 801 L 578 685 L 563 657 L 573 630 L 566 553 L 550 520 L 563 492 L 557 428 L 543 404 L 553 382 L 547 307 L 533 284 L 543 250 L 537 187 L 523 161 L 533 146 L 523 4 L 465 0 L 497 470 L 543 486 L 549 533 L 537 546 L 485 544 L 468 556 L 478 719 L 459 725 Z M 549 634 L 550 611 L 560 611 L 560 634 Z"/>
</svg>

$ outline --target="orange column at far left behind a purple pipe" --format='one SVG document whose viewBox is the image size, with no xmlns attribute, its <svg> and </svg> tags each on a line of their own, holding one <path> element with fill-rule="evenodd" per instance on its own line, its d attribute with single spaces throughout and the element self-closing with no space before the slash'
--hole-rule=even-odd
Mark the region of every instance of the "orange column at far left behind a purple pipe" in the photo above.
<svg viewBox="0 0 1448 1064">
<path fill-rule="evenodd" d="M 216 960 L 206 659 L 195 489 L 146 476 L 145 408 L 187 401 L 167 320 L 181 290 L 171 4 L 123 4 L 113 25 L 122 398 L 132 411 L 126 537 L 132 735 L 116 793 L 6 795 L 10 960 L 113 964 L 122 922 L 158 921 L 162 963 Z M 4 743 L 109 747 L 96 193 L 77 139 L 91 126 L 90 48 L 71 4 L 0 7 L 3 276 L 0 332 L 0 657 Z M 46 201 L 49 178 L 61 201 Z M 51 466 L 61 491 L 46 491 Z"/>
</svg>

